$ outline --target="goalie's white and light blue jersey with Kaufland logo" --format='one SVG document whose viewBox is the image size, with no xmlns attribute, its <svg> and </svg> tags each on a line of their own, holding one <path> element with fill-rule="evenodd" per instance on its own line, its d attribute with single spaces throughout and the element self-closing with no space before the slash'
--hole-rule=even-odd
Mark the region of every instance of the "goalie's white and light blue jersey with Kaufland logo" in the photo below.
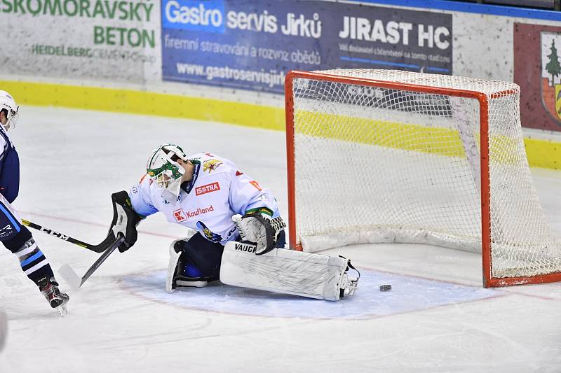
<svg viewBox="0 0 561 373">
<path fill-rule="evenodd" d="M 239 171 L 234 162 L 211 153 L 191 155 L 189 160 L 195 168 L 187 192 L 182 189 L 175 198 L 144 175 L 129 192 L 133 209 L 143 216 L 160 211 L 169 222 L 201 232 L 222 245 L 238 237 L 231 220 L 236 213 L 264 208 L 273 212 L 273 218 L 279 215 L 269 189 Z"/>
</svg>

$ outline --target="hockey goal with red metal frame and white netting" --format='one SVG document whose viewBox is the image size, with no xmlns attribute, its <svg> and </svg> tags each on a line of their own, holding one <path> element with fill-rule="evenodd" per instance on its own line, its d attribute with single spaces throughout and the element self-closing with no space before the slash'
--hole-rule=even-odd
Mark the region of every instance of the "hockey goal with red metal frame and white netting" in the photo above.
<svg viewBox="0 0 561 373">
<path fill-rule="evenodd" d="M 482 253 L 483 285 L 561 280 L 514 83 L 407 71 L 291 71 L 289 244 Z"/>
</svg>

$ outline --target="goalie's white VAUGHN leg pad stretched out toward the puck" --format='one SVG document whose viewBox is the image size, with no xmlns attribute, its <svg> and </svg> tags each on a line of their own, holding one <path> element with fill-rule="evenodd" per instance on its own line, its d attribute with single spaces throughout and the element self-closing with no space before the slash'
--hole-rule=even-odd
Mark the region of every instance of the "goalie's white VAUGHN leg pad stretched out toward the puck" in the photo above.
<svg viewBox="0 0 561 373">
<path fill-rule="evenodd" d="M 351 286 L 354 290 L 357 286 L 357 281 L 348 279 L 347 262 L 341 257 L 284 248 L 255 255 L 255 245 L 229 242 L 222 254 L 220 281 L 243 288 L 339 300 L 341 290 L 348 292 Z"/>
</svg>

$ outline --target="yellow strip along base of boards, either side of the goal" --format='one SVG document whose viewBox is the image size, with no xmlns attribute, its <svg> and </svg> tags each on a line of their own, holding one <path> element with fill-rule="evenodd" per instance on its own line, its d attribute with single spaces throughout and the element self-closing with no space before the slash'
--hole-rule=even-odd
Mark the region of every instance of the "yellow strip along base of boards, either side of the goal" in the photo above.
<svg viewBox="0 0 561 373">
<path fill-rule="evenodd" d="M 260 129 L 285 129 L 284 109 L 272 106 L 139 90 L 11 80 L 0 80 L 0 90 L 10 92 L 21 105 L 60 106 L 208 120 Z M 524 139 L 524 143 L 530 166 L 561 169 L 561 143 L 528 138 Z"/>
</svg>

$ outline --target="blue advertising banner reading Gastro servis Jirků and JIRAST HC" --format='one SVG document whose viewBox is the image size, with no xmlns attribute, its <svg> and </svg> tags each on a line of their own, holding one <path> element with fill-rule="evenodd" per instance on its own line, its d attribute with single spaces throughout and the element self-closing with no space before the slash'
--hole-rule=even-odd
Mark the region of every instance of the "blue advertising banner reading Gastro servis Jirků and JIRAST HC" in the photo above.
<svg viewBox="0 0 561 373">
<path fill-rule="evenodd" d="M 163 80 L 283 93 L 290 70 L 452 74 L 452 15 L 328 1 L 162 0 Z"/>
</svg>

